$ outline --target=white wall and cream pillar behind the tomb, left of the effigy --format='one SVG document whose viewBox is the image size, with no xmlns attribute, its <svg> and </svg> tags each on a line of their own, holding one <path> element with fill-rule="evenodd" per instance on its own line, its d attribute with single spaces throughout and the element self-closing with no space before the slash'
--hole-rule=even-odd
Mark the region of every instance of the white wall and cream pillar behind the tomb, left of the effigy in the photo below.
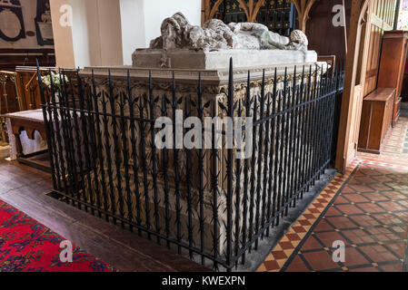
<svg viewBox="0 0 408 290">
<path fill-rule="evenodd" d="M 64 3 L 73 7 L 73 27 L 54 32 L 57 64 L 65 67 L 131 65 L 134 50 L 148 47 L 164 18 L 179 11 L 201 24 L 201 0 L 51 0 L 53 23 Z"/>
</svg>

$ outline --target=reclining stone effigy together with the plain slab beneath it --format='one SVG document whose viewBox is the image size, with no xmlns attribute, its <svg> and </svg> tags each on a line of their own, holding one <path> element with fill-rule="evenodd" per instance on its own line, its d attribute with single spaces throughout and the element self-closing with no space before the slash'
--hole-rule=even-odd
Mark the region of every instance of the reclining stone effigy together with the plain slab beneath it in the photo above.
<svg viewBox="0 0 408 290">
<path fill-rule="evenodd" d="M 230 58 L 234 68 L 291 66 L 317 62 L 317 53 L 307 50 L 302 31 L 290 37 L 268 31 L 263 24 L 224 24 L 212 19 L 204 27 L 188 23 L 183 14 L 164 20 L 162 36 L 149 49 L 134 52 L 134 67 L 222 70 Z"/>
</svg>

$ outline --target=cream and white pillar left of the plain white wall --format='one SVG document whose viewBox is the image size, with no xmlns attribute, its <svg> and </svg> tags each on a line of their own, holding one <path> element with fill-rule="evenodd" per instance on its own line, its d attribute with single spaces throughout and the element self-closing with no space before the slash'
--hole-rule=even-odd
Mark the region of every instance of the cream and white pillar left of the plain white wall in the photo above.
<svg viewBox="0 0 408 290">
<path fill-rule="evenodd" d="M 57 66 L 123 65 L 120 0 L 51 0 Z M 62 5 L 72 26 L 61 26 Z"/>
</svg>

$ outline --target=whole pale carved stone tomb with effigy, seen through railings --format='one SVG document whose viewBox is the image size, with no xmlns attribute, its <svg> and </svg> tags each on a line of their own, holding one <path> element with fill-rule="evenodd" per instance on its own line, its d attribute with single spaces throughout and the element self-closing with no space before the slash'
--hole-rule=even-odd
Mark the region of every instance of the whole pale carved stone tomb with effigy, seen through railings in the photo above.
<svg viewBox="0 0 408 290">
<path fill-rule="evenodd" d="M 185 19 L 183 14 L 174 14 L 173 17 L 167 18 L 164 20 L 162 25 L 162 35 L 152 41 L 151 48 L 144 49 L 144 50 L 136 50 L 134 55 L 134 67 L 126 68 L 126 67 L 89 67 L 85 68 L 81 72 L 81 75 L 85 77 L 87 82 L 90 82 L 92 72 L 95 74 L 95 82 L 97 84 L 98 92 L 102 94 L 108 94 L 108 82 L 107 77 L 110 73 L 112 77 L 112 84 L 114 87 L 114 95 L 115 100 L 114 108 L 111 107 L 111 104 L 107 102 L 105 105 L 105 110 L 108 112 L 114 111 L 116 114 L 121 114 L 121 108 L 119 106 L 118 99 L 120 98 L 121 92 L 126 95 L 127 90 L 127 73 L 132 81 L 132 86 L 134 87 L 134 96 L 141 97 L 147 96 L 149 97 L 149 73 L 151 73 L 152 80 L 153 80 L 153 94 L 154 98 L 158 98 L 159 102 L 154 102 L 154 111 L 150 111 L 148 105 L 146 105 L 143 114 L 139 114 L 137 112 L 137 117 L 144 117 L 144 118 L 158 118 L 162 116 L 163 111 L 165 111 L 165 115 L 172 116 L 172 107 L 171 104 L 165 104 L 165 109 L 161 107 L 162 98 L 166 98 L 167 100 L 172 100 L 173 97 L 173 75 L 175 81 L 175 92 L 176 92 L 176 99 L 180 100 L 178 103 L 178 109 L 185 108 L 185 97 L 189 96 L 189 100 L 197 103 L 197 90 L 198 90 L 198 79 L 199 74 L 202 81 L 202 97 L 203 103 L 208 103 L 208 107 L 204 110 L 203 117 L 215 117 L 220 116 L 223 117 L 226 115 L 225 111 L 221 109 L 220 103 L 226 108 L 228 107 L 226 92 L 228 91 L 228 80 L 229 80 L 229 63 L 230 58 L 233 58 L 234 61 L 234 102 L 241 101 L 244 102 L 246 97 L 246 88 L 247 88 L 247 78 L 248 72 L 250 73 L 250 92 L 251 96 L 259 96 L 261 93 L 262 88 L 262 79 L 263 73 L 265 76 L 265 92 L 273 92 L 274 91 L 274 82 L 276 82 L 276 90 L 277 90 L 277 97 L 274 102 L 278 102 L 279 99 L 282 99 L 282 92 L 284 89 L 284 73 L 286 71 L 286 82 L 287 82 L 287 90 L 293 87 L 294 83 L 304 82 L 305 86 L 308 83 L 309 77 L 311 80 L 316 80 L 319 78 L 319 75 L 315 75 L 316 71 L 315 68 L 317 67 L 317 72 L 322 72 L 327 67 L 323 68 L 322 63 L 317 63 L 317 54 L 313 51 L 307 51 L 307 37 L 299 32 L 294 31 L 291 37 L 284 37 L 279 34 L 274 34 L 269 32 L 266 27 L 262 24 L 229 24 L 226 25 L 218 20 L 211 20 L 204 24 L 204 27 L 193 26 L 188 24 L 188 21 Z M 296 74 L 294 74 L 294 66 L 296 66 Z M 311 70 L 312 68 L 312 70 Z M 276 80 L 274 80 L 274 73 L 276 70 Z M 302 71 L 304 70 L 304 74 Z M 304 75 L 304 80 L 302 80 L 302 75 Z M 272 98 L 269 99 L 267 102 L 273 102 Z M 270 112 L 266 111 L 267 103 L 264 105 L 264 115 L 270 114 Z M 272 107 L 272 106 L 271 106 Z M 99 97 L 98 100 L 98 110 L 103 111 L 104 105 L 102 97 Z M 215 112 L 215 115 L 214 113 Z M 130 108 L 129 104 L 124 104 L 123 114 L 126 117 L 129 117 Z M 235 112 L 235 115 L 237 112 Z M 242 114 L 245 115 L 245 111 L 242 111 Z M 258 116 L 261 115 L 260 108 L 258 107 L 257 111 Z M 198 112 L 192 108 L 191 111 L 192 116 L 197 116 Z M 103 142 L 109 140 L 110 144 L 112 145 L 110 148 L 109 146 L 104 146 L 104 144 L 98 144 L 98 146 L 103 146 L 104 152 L 104 166 L 99 166 L 99 171 L 96 172 L 95 175 L 92 176 L 92 184 L 97 186 L 99 190 L 102 188 L 103 181 L 101 174 L 102 171 L 106 173 L 105 167 L 107 167 L 106 157 L 112 156 L 114 159 L 115 152 L 113 150 L 114 144 L 114 136 L 113 136 L 113 126 L 114 122 L 112 120 L 107 121 L 108 124 L 108 131 L 104 130 L 104 118 L 101 116 L 99 122 L 101 124 L 101 135 L 103 136 Z M 119 126 L 119 125 L 117 125 Z M 125 128 L 126 128 L 126 136 L 131 136 L 131 128 L 132 126 L 135 127 L 136 134 L 140 137 L 141 134 L 141 124 L 140 122 L 135 122 L 132 124 L 130 121 L 125 121 Z M 217 124 L 217 129 L 219 131 L 223 131 L 223 124 Z M 126 184 L 124 179 L 124 172 L 122 172 L 121 180 L 114 179 L 114 187 L 112 188 L 109 185 L 109 182 L 105 182 L 107 184 L 108 189 L 107 191 L 110 192 L 111 190 L 115 192 L 115 201 L 119 202 L 117 192 L 118 188 L 122 188 L 124 191 L 127 186 L 130 186 L 131 191 L 134 192 L 136 189 L 136 185 L 134 183 L 134 175 L 138 176 L 139 180 L 144 179 L 144 156 L 148 160 L 148 164 L 145 164 L 149 172 L 152 172 L 152 152 L 153 149 L 150 146 L 152 144 L 151 136 L 148 132 L 150 132 L 150 124 L 147 124 L 144 130 L 147 132 L 145 134 L 145 140 L 147 148 L 145 152 L 142 152 L 142 146 L 140 143 L 140 139 L 137 140 L 137 160 L 134 160 L 133 157 L 130 160 L 123 160 L 121 157 L 121 170 L 124 170 L 125 164 L 127 163 L 127 167 L 129 167 L 129 174 L 131 176 L 130 185 Z M 275 128 L 271 129 L 277 130 Z M 258 142 L 256 137 L 254 140 Z M 274 146 L 276 146 L 276 140 L 272 140 L 274 142 Z M 124 142 L 122 140 L 118 140 L 119 148 L 124 148 Z M 127 141 L 125 144 L 127 149 L 132 148 L 132 140 Z M 220 156 L 226 156 L 226 150 L 219 150 Z M 141 154 L 144 153 L 144 154 Z M 161 150 L 155 150 L 155 154 L 157 157 L 160 157 L 163 152 Z M 199 171 L 199 160 L 197 158 L 197 150 L 191 151 L 191 171 L 198 172 Z M 187 178 L 188 174 L 191 172 L 187 172 L 185 162 L 186 162 L 186 154 L 187 150 L 179 150 L 178 152 L 178 163 L 180 164 L 180 193 L 181 193 L 181 200 L 180 200 L 180 208 L 183 209 L 182 219 L 183 225 L 185 225 L 187 216 L 186 216 L 186 208 L 188 208 L 188 199 L 187 199 Z M 174 164 L 174 152 L 169 150 L 169 164 Z M 255 155 L 257 158 L 257 155 Z M 262 171 L 264 169 L 264 161 L 269 163 L 270 158 L 272 155 L 263 159 L 262 161 Z M 116 160 L 117 161 L 117 160 Z M 134 172 L 134 161 L 137 162 L 139 169 L 138 172 Z M 210 152 L 207 152 L 204 159 L 204 177 L 203 177 L 203 184 L 204 184 L 204 218 L 205 218 L 205 249 L 208 252 L 211 252 L 213 249 L 211 235 L 215 235 L 219 237 L 219 251 L 220 253 L 224 252 L 225 247 L 225 224 L 226 224 L 226 213 L 225 213 L 225 190 L 226 190 L 226 180 L 224 177 L 226 176 L 226 164 L 225 159 L 220 158 L 217 161 L 216 167 L 220 171 L 220 182 L 218 187 L 219 198 L 218 198 L 218 212 L 219 212 L 219 227 L 217 229 L 217 233 L 212 232 L 212 217 L 213 217 L 213 205 L 212 201 L 214 198 L 214 189 L 212 188 L 212 181 L 211 181 L 211 172 L 214 171 L 213 169 L 213 160 L 211 160 Z M 114 162 L 114 160 L 113 160 Z M 113 176 L 117 175 L 117 171 L 115 166 L 113 165 Z M 154 189 L 154 180 L 152 175 L 149 173 L 147 183 L 140 181 L 139 184 L 139 191 L 143 197 L 144 192 L 149 192 L 150 195 L 150 205 L 149 207 L 154 208 L 154 200 L 153 200 L 153 192 L 156 190 L 158 194 L 158 199 L 160 200 L 159 206 L 159 214 L 160 214 L 160 222 L 164 225 L 164 200 L 165 200 L 165 192 L 164 192 L 164 164 L 160 158 L 157 158 L 157 180 L 156 180 L 156 189 Z M 250 176 L 252 172 L 250 171 Z M 176 200 L 174 196 L 175 190 L 175 182 L 174 182 L 174 169 L 170 167 L 167 171 L 167 182 L 169 184 L 170 195 L 169 195 L 169 204 L 170 204 L 170 219 L 172 220 L 172 225 L 174 225 L 174 218 L 176 216 L 175 212 L 176 208 Z M 107 175 L 104 174 L 105 179 L 107 179 Z M 257 173 L 254 173 L 254 177 L 257 177 Z M 95 182 L 97 179 L 97 182 Z M 191 176 L 191 184 L 193 188 L 191 189 L 192 193 L 192 207 L 193 207 L 193 226 L 194 226 L 194 240 L 198 240 L 200 232 L 199 232 L 199 220 L 198 215 L 200 212 L 200 203 L 199 203 L 199 192 L 198 184 L 199 176 L 197 174 L 193 174 Z M 241 182 L 244 180 L 244 172 L 242 172 Z M 263 189 L 262 184 L 264 183 L 264 177 L 261 179 L 261 189 Z M 118 184 L 120 186 L 118 187 Z M 236 182 L 234 181 L 234 188 L 236 189 Z M 88 182 L 85 182 L 88 184 Z M 240 185 L 241 193 L 244 195 L 244 185 Z M 88 195 L 95 194 L 97 189 L 89 189 Z M 95 200 L 96 197 L 93 199 Z M 89 197 L 87 198 L 89 199 Z M 132 200 L 125 199 L 124 200 L 124 215 L 127 216 L 129 211 L 132 211 L 135 215 L 135 207 L 134 205 L 137 203 L 134 195 L 131 197 Z M 145 199 L 142 198 L 140 201 L 142 203 L 141 208 L 144 208 Z M 234 203 L 236 199 L 234 199 Z M 243 202 L 243 198 L 241 198 L 241 203 Z M 257 202 L 262 202 L 262 200 L 258 200 Z M 111 201 L 108 200 L 107 203 L 109 207 L 112 209 Z M 128 205 L 133 205 L 133 208 L 130 208 Z M 241 206 L 242 208 L 243 206 Z M 115 209 L 115 214 L 118 214 L 118 209 Z M 254 210 L 251 208 L 250 210 Z M 151 219 L 153 220 L 153 214 Z M 237 220 L 241 221 L 240 213 L 234 213 L 233 218 L 237 218 Z M 145 218 L 143 219 L 143 223 L 145 222 Z M 249 225 L 248 225 L 249 226 Z M 157 228 L 152 225 L 151 228 L 158 230 Z M 175 236 L 175 227 L 171 228 L 171 236 Z M 188 229 L 183 226 L 182 228 L 184 239 L 188 236 L 187 231 Z"/>
</svg>

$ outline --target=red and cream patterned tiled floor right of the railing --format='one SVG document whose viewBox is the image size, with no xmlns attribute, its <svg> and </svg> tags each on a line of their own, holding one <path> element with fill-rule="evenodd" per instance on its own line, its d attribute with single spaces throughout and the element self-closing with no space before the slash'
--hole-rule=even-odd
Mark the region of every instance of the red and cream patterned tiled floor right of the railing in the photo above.
<svg viewBox="0 0 408 290">
<path fill-rule="evenodd" d="M 402 271 L 408 237 L 408 118 L 381 155 L 358 154 L 323 190 L 258 271 Z M 344 262 L 333 261 L 343 242 Z"/>
</svg>

